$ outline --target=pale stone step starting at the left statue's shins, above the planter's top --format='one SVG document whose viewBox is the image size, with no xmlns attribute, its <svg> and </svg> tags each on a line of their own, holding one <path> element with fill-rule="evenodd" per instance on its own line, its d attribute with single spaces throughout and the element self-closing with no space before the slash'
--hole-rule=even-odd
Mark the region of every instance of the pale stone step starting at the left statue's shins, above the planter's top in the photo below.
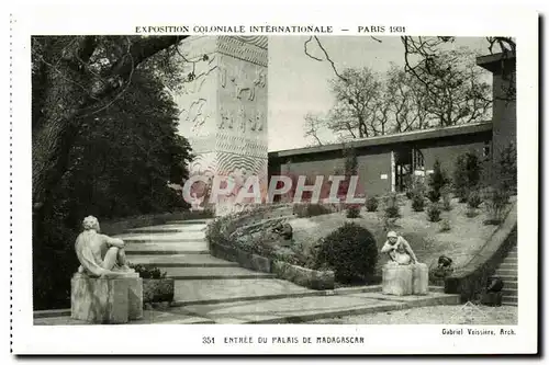
<svg viewBox="0 0 549 365">
<path fill-rule="evenodd" d="M 237 267 L 238 263 L 214 258 L 209 254 L 156 254 L 127 255 L 133 264 L 158 267 Z"/>
</svg>

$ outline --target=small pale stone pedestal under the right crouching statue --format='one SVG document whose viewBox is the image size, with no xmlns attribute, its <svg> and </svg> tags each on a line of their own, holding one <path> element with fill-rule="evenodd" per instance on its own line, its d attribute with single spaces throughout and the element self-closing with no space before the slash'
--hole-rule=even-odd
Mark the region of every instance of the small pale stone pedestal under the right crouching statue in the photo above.
<svg viewBox="0 0 549 365">
<path fill-rule="evenodd" d="M 389 295 L 425 295 L 429 274 L 426 264 L 386 264 L 382 270 L 381 292 Z"/>
</svg>

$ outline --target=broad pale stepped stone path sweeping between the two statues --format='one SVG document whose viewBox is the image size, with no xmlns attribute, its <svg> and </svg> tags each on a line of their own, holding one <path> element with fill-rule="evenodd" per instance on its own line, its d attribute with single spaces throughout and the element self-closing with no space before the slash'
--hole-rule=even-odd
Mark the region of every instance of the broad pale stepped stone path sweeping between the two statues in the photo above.
<svg viewBox="0 0 549 365">
<path fill-rule="evenodd" d="M 175 278 L 170 316 L 190 316 L 198 322 L 283 323 L 459 303 L 457 295 L 436 287 L 427 296 L 391 298 L 381 295 L 380 286 L 309 289 L 210 255 L 208 223 L 173 220 L 116 236 L 125 241 L 131 263 L 156 266 Z"/>
</svg>

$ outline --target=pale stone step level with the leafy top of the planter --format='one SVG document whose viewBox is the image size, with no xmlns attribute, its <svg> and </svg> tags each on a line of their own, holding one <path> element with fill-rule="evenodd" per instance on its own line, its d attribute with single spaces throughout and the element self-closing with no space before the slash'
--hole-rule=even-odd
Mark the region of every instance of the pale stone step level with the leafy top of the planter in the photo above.
<svg viewBox="0 0 549 365">
<path fill-rule="evenodd" d="M 255 280 L 276 277 L 274 274 L 260 273 L 243 267 L 164 267 L 169 277 L 177 280 Z M 246 283 L 245 285 L 250 285 Z"/>
</svg>

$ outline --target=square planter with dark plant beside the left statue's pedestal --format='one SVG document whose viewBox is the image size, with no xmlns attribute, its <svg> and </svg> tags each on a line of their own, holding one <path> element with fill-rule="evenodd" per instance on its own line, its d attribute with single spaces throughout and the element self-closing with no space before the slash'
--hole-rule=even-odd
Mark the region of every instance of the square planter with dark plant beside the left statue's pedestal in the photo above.
<svg viewBox="0 0 549 365">
<path fill-rule="evenodd" d="M 158 267 L 131 265 L 143 278 L 143 303 L 173 301 L 173 278 Z"/>
</svg>

